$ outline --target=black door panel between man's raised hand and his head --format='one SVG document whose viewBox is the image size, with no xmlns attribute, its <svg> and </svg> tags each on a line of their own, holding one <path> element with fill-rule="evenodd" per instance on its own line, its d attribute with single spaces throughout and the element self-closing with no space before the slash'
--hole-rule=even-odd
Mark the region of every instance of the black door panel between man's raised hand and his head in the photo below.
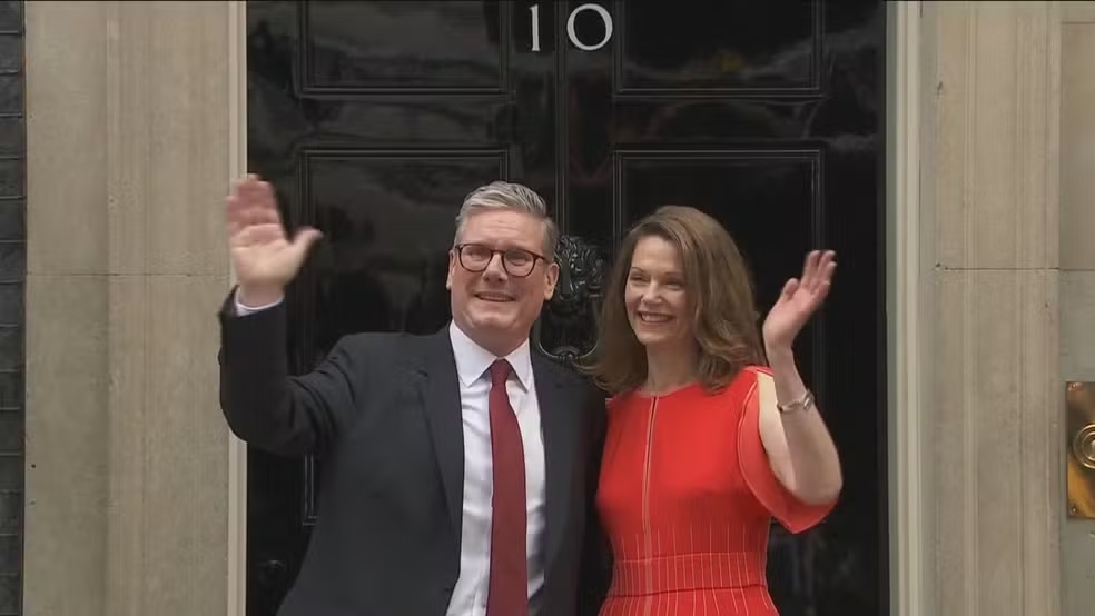
<svg viewBox="0 0 1095 616">
<path fill-rule="evenodd" d="M 305 217 L 329 232 L 313 269 L 316 338 L 305 348 L 329 349 L 347 331 L 444 325 L 447 314 L 428 316 L 437 308 L 431 294 L 444 290 L 463 187 L 507 168 L 504 150 L 305 152 Z"/>
</svg>

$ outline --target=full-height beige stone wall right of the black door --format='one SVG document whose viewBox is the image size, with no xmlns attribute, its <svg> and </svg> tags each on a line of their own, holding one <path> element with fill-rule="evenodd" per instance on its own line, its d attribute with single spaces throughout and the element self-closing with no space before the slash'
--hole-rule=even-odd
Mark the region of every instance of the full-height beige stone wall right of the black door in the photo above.
<svg viewBox="0 0 1095 616">
<path fill-rule="evenodd" d="M 925 614 L 1056 616 L 1059 4 L 924 6 Z"/>
</svg>

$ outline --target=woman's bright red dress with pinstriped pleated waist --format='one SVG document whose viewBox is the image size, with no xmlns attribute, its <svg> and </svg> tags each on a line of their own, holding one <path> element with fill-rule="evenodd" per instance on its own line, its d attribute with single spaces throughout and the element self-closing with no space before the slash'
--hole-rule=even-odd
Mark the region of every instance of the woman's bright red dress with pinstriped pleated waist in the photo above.
<svg viewBox="0 0 1095 616">
<path fill-rule="evenodd" d="M 691 385 L 609 401 L 596 505 L 615 566 L 601 616 L 778 615 L 770 521 L 800 533 L 832 505 L 801 503 L 772 473 L 760 439 L 772 391 L 771 372 L 748 368 L 716 394 Z"/>
</svg>

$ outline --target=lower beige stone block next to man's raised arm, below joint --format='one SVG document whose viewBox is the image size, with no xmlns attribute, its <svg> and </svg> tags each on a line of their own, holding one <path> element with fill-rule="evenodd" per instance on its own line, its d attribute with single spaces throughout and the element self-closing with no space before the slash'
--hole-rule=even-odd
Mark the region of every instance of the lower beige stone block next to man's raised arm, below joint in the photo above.
<svg viewBox="0 0 1095 616">
<path fill-rule="evenodd" d="M 218 399 L 216 310 L 227 277 L 149 281 L 146 606 L 213 614 L 227 596 L 228 430 Z M 172 307 L 159 309 L 158 307 Z"/>
</svg>

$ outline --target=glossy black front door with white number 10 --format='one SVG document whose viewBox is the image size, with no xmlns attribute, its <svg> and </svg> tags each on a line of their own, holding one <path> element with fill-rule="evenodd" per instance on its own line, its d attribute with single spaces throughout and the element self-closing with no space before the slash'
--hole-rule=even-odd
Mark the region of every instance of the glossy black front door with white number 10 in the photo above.
<svg viewBox="0 0 1095 616">
<path fill-rule="evenodd" d="M 763 307 L 838 251 L 799 341 L 846 488 L 819 528 L 775 527 L 786 616 L 888 612 L 882 285 L 885 4 L 817 1 L 248 2 L 249 167 L 326 234 L 294 282 L 298 371 L 352 331 L 434 331 L 454 217 L 504 178 L 553 208 L 568 282 L 537 342 L 589 350 L 599 277 L 659 205 L 740 241 Z M 316 517 L 313 460 L 249 453 L 248 614 L 273 615 Z"/>
</svg>

